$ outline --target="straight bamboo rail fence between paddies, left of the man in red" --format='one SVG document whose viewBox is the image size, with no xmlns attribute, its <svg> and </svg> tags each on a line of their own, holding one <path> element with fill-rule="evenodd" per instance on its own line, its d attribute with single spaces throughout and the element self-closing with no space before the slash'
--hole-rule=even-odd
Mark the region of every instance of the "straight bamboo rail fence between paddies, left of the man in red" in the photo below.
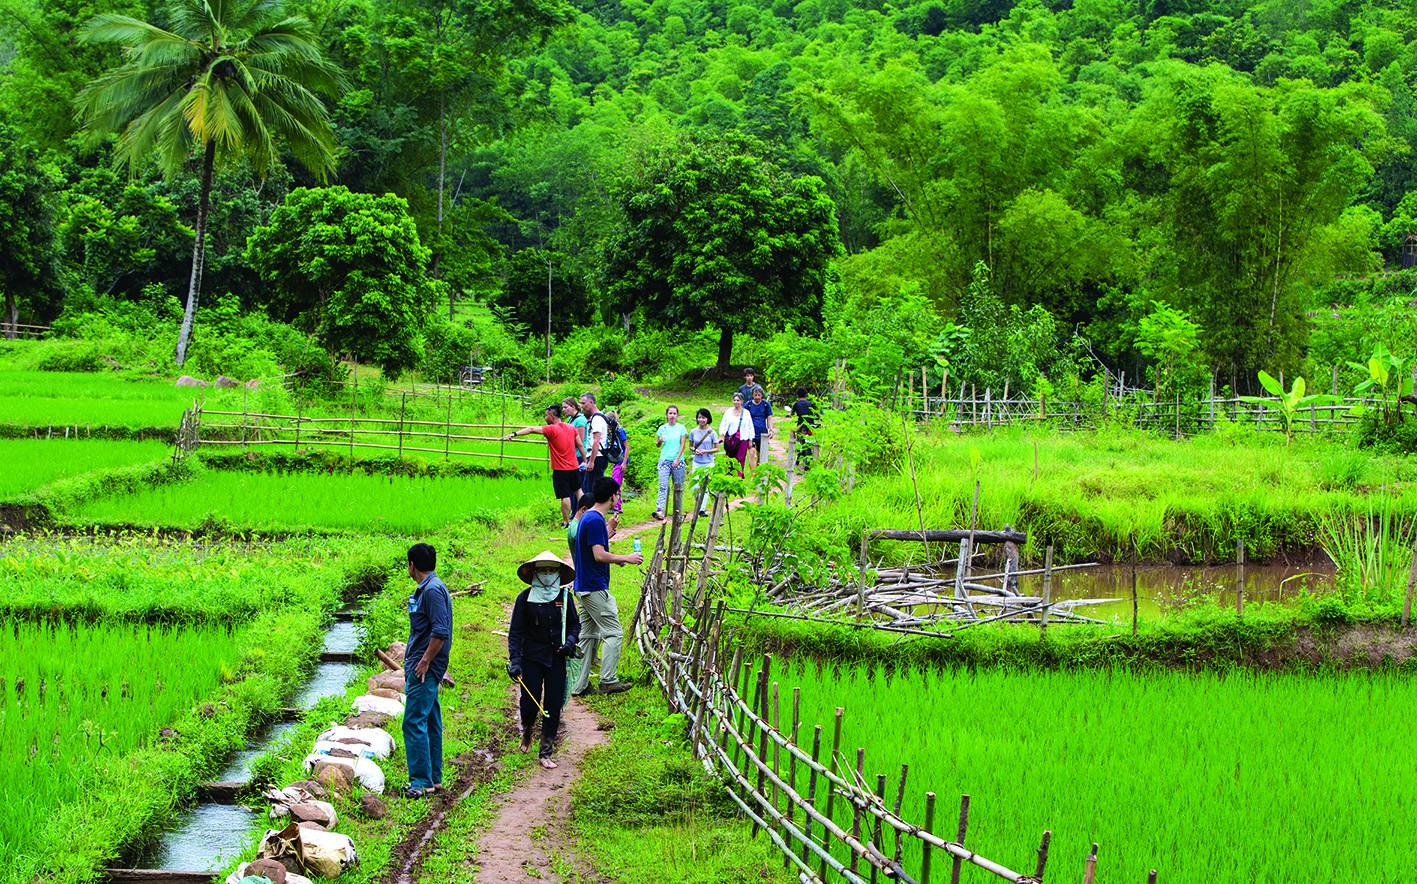
<svg viewBox="0 0 1417 884">
<path fill-rule="evenodd" d="M 503 416 L 497 424 L 466 424 L 452 419 L 452 398 L 446 398 L 446 419 L 368 418 L 353 411 L 343 416 L 306 415 L 303 412 L 268 414 L 259 411 L 222 411 L 205 408 L 200 401 L 183 412 L 177 432 L 181 458 L 201 446 L 239 449 L 283 449 L 292 452 L 334 450 L 354 458 L 361 452 L 384 455 L 432 455 L 446 460 L 478 458 L 499 463 L 546 463 L 546 443 L 540 436 L 504 436 L 520 426 Z M 512 415 L 517 416 L 517 415 Z M 520 453 L 517 453 L 520 452 Z"/>
</svg>

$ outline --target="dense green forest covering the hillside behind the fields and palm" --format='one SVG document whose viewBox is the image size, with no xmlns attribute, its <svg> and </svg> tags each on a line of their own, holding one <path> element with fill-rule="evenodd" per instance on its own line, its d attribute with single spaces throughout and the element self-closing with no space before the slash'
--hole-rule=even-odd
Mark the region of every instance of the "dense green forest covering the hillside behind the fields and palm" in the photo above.
<svg viewBox="0 0 1417 884">
<path fill-rule="evenodd" d="M 176 332 L 196 285 L 213 371 L 313 337 L 523 382 L 845 357 L 866 392 L 1417 344 L 1404 0 L 248 0 L 319 54 L 272 71 L 329 137 L 210 142 L 196 269 L 201 144 L 122 133 L 137 55 L 91 24 L 184 6 L 0 0 L 11 322 Z"/>
</svg>

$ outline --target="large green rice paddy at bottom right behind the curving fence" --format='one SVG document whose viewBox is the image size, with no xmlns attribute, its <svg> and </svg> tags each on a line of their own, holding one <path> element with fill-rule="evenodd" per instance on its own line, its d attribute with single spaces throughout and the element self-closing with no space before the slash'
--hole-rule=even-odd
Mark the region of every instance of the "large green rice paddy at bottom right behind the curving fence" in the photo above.
<svg viewBox="0 0 1417 884">
<path fill-rule="evenodd" d="M 1016 870 L 1033 868 L 1050 829 L 1053 876 L 1071 878 L 1097 842 L 1104 884 L 1151 868 L 1178 884 L 1411 874 L 1408 677 L 813 666 L 779 677 L 801 684 L 805 742 L 822 724 L 830 745 L 845 707 L 842 764 L 864 747 L 867 782 L 883 772 L 891 793 L 908 764 L 903 816 L 922 820 L 934 790 L 937 832 L 954 832 L 968 793 L 966 844 Z M 849 813 L 837 819 L 850 829 Z M 918 871 L 918 853 L 905 867 Z"/>
</svg>

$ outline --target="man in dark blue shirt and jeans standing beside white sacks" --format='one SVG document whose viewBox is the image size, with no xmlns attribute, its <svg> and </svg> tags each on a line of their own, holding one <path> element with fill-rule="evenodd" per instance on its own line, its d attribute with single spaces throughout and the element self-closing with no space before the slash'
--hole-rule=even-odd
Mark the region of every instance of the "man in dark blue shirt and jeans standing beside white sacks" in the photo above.
<svg viewBox="0 0 1417 884">
<path fill-rule="evenodd" d="M 442 786 L 442 708 L 438 681 L 448 672 L 452 647 L 452 598 L 438 578 L 438 551 L 428 544 L 408 550 L 408 577 L 418 589 L 408 596 L 408 647 L 404 650 L 404 795 L 424 798 Z M 410 669 L 412 663 L 412 669 Z"/>
</svg>

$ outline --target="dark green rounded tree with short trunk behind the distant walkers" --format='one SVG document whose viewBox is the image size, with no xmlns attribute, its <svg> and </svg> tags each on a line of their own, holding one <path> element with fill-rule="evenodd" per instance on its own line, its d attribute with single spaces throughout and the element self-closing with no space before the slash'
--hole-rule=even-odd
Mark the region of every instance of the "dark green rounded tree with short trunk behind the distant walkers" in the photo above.
<svg viewBox="0 0 1417 884">
<path fill-rule="evenodd" d="M 718 329 L 718 368 L 735 332 L 820 322 L 836 207 L 815 177 L 764 160 L 751 139 L 689 136 L 646 154 L 615 194 L 606 286 L 622 313 L 674 329 Z"/>
</svg>

